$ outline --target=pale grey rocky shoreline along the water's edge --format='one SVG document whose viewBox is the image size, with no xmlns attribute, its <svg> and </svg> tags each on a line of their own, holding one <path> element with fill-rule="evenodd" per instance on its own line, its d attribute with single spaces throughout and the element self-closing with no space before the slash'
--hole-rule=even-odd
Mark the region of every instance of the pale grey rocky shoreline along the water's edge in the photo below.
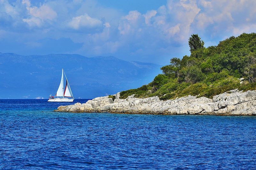
<svg viewBox="0 0 256 170">
<path fill-rule="evenodd" d="M 162 114 L 162 115 L 256 115 L 256 91 L 231 90 L 216 95 L 213 99 L 197 96 L 185 96 L 173 100 L 159 100 L 158 96 L 119 99 L 120 93 L 114 94 L 113 101 L 108 96 L 97 97 L 86 103 L 59 106 L 55 112 L 109 112 L 127 114 Z"/>
</svg>

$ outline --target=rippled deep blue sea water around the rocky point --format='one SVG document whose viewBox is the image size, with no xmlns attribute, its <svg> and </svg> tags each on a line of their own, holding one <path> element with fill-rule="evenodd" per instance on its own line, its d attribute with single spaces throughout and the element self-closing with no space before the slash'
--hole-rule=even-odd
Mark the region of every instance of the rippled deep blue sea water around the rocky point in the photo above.
<svg viewBox="0 0 256 170">
<path fill-rule="evenodd" d="M 254 116 L 53 112 L 63 104 L 0 100 L 0 169 L 256 168 Z"/>
</svg>

